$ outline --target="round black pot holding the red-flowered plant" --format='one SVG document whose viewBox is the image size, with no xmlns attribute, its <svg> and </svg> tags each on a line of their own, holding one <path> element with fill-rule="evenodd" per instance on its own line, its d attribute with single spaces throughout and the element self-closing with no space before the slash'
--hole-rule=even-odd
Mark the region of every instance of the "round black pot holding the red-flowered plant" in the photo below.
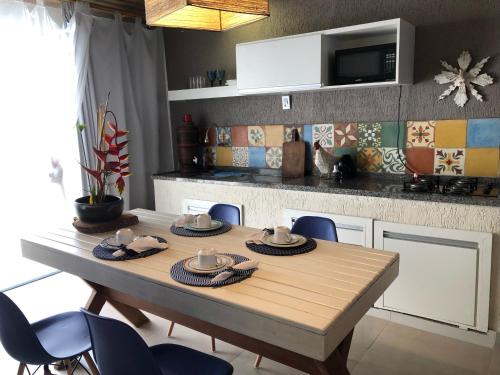
<svg viewBox="0 0 500 375">
<path fill-rule="evenodd" d="M 98 223 L 118 219 L 123 213 L 123 198 L 106 195 L 101 203 L 89 203 L 89 196 L 75 200 L 76 215 L 81 221 Z"/>
</svg>

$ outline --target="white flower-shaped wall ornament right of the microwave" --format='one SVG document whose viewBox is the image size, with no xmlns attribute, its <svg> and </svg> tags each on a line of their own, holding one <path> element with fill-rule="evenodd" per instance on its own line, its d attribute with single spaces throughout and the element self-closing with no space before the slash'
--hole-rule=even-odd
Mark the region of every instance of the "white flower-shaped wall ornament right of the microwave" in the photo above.
<svg viewBox="0 0 500 375">
<path fill-rule="evenodd" d="M 493 83 L 493 77 L 486 73 L 481 73 L 484 65 L 488 62 L 490 56 L 485 57 L 474 65 L 470 70 L 467 69 L 472 62 L 472 57 L 469 51 L 463 51 L 458 57 L 458 66 L 455 68 L 448 64 L 446 61 L 441 60 L 441 65 L 447 69 L 441 71 L 434 77 L 434 80 L 440 85 L 451 83 L 450 86 L 439 96 L 439 100 L 443 100 L 449 96 L 453 91 L 457 90 L 455 98 L 453 99 L 457 106 L 463 107 L 465 103 L 468 102 L 469 97 L 467 96 L 467 90 L 470 91 L 471 95 L 475 97 L 480 102 L 483 101 L 483 96 L 476 90 L 476 86 L 489 86 Z"/>
</svg>

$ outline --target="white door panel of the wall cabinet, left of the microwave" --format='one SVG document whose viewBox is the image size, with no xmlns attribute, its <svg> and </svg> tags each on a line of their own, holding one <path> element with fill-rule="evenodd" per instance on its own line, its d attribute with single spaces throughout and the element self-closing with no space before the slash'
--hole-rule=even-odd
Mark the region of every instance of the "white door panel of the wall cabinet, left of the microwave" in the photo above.
<svg viewBox="0 0 500 375">
<path fill-rule="evenodd" d="M 241 92 L 321 87 L 321 35 L 301 35 L 236 46 Z"/>
</svg>

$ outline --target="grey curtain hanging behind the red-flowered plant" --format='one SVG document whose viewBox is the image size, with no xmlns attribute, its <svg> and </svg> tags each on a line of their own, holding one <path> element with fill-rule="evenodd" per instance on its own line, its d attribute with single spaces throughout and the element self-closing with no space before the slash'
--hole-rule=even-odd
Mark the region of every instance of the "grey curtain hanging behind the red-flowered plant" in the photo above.
<svg viewBox="0 0 500 375">
<path fill-rule="evenodd" d="M 80 120 L 90 133 L 86 142 L 95 139 L 97 106 L 110 92 L 109 108 L 120 128 L 130 132 L 126 207 L 154 208 L 151 175 L 173 169 L 163 33 L 141 20 L 91 16 L 84 3 L 76 3 L 70 26 L 75 31 Z"/>
</svg>

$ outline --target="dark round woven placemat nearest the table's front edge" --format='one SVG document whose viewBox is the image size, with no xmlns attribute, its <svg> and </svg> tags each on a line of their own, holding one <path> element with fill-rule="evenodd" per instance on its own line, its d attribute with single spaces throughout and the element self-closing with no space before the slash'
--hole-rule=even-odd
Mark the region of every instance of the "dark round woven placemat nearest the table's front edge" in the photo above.
<svg viewBox="0 0 500 375">
<path fill-rule="evenodd" d="M 241 262 L 246 262 L 247 260 L 249 260 L 247 257 L 241 256 L 238 254 L 224 254 L 224 255 L 228 255 L 228 256 L 232 257 L 236 261 L 236 264 L 241 263 Z M 186 261 L 186 259 L 183 259 L 183 260 L 175 263 L 172 266 L 172 268 L 170 268 L 170 276 L 172 277 L 172 279 L 174 279 L 175 281 L 177 281 L 181 284 L 186 284 L 186 285 L 191 285 L 191 286 L 219 287 L 219 286 L 224 286 L 224 285 L 231 285 L 234 283 L 238 283 L 241 280 L 246 279 L 247 277 L 250 277 L 252 275 L 253 271 L 255 271 L 255 269 L 247 270 L 247 271 L 238 270 L 237 271 L 238 273 L 234 274 L 229 279 L 226 279 L 224 281 L 220 281 L 216 284 L 212 284 L 210 282 L 210 280 L 214 276 L 216 276 L 218 273 L 220 273 L 221 271 L 214 272 L 211 274 L 205 274 L 205 275 L 192 273 L 192 272 L 186 271 L 184 269 L 184 262 L 185 261 Z"/>
</svg>

